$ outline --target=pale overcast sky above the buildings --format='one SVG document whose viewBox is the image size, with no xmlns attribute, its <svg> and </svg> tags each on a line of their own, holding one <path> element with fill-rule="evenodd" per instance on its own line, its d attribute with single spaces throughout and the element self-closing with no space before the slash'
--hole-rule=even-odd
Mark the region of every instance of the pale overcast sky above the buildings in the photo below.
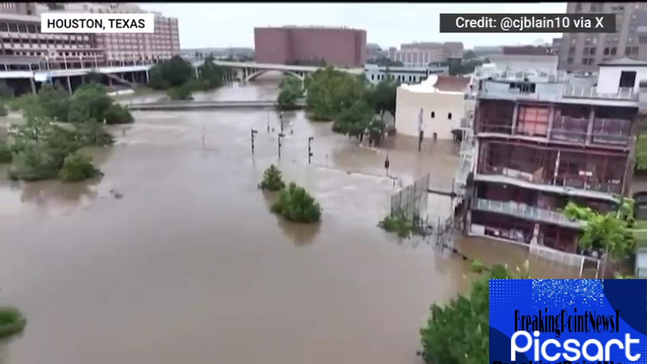
<svg viewBox="0 0 647 364">
<path fill-rule="evenodd" d="M 362 28 L 382 47 L 410 41 L 515 45 L 561 34 L 440 34 L 439 13 L 564 13 L 566 3 L 146 3 L 146 10 L 178 18 L 180 47 L 254 47 L 254 27 L 344 25 Z"/>
</svg>

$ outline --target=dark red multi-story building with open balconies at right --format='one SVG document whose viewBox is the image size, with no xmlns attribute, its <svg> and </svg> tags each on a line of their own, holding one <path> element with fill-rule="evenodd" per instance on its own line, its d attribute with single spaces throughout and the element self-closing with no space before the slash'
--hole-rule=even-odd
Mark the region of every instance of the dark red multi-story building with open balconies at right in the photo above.
<svg viewBox="0 0 647 364">
<path fill-rule="evenodd" d="M 628 193 L 647 63 L 602 65 L 597 79 L 562 76 L 479 80 L 472 234 L 575 253 L 583 223 L 562 213 L 567 202 L 605 211 Z"/>
</svg>

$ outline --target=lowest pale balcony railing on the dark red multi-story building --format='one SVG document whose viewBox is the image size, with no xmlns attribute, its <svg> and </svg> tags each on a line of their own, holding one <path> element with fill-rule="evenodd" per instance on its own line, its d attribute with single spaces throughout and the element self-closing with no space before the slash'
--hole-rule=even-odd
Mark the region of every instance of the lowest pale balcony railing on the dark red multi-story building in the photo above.
<svg viewBox="0 0 647 364">
<path fill-rule="evenodd" d="M 529 206 L 525 203 L 514 201 L 496 201 L 494 199 L 477 198 L 474 208 L 510 216 L 520 216 L 528 220 L 538 222 L 553 223 L 567 227 L 580 229 L 584 227 L 584 222 L 579 220 L 570 220 L 562 212 L 553 210 L 540 209 L 539 207 Z"/>
</svg>

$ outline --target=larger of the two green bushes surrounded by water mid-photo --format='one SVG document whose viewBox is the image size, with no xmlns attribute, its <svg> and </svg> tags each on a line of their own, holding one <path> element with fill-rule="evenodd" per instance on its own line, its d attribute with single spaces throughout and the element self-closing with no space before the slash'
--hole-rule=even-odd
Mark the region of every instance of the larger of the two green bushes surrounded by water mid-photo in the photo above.
<svg viewBox="0 0 647 364">
<path fill-rule="evenodd" d="M 305 188 L 292 182 L 279 192 L 272 212 L 291 222 L 314 223 L 321 218 L 321 207 Z"/>
</svg>

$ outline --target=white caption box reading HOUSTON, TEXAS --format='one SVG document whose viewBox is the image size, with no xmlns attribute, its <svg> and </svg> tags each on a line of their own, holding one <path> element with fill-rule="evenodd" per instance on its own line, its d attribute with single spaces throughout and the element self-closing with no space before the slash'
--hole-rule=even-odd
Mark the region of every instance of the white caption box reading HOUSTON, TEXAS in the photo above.
<svg viewBox="0 0 647 364">
<path fill-rule="evenodd" d="M 43 13 L 43 33 L 154 33 L 155 14 Z"/>
</svg>

